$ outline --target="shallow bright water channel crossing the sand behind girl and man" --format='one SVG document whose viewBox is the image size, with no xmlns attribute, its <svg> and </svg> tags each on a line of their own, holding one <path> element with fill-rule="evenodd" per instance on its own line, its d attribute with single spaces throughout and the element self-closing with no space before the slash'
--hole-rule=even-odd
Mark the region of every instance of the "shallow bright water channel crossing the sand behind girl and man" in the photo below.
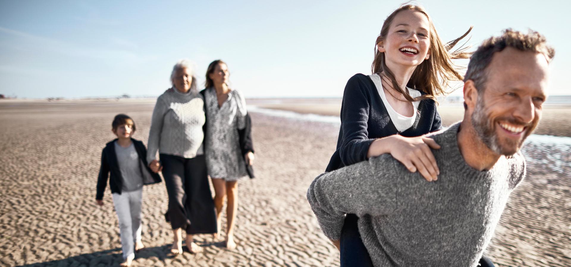
<svg viewBox="0 0 571 267">
<path fill-rule="evenodd" d="M 569 97 L 571 100 L 571 96 Z M 337 116 L 318 114 L 300 114 L 287 110 L 264 109 L 248 105 L 249 112 L 257 112 L 268 116 L 291 118 L 292 120 L 328 122 L 340 126 Z M 571 171 L 571 137 L 532 134 L 525 140 L 522 147 L 529 166 L 541 166 L 546 171 L 569 175 Z"/>
</svg>

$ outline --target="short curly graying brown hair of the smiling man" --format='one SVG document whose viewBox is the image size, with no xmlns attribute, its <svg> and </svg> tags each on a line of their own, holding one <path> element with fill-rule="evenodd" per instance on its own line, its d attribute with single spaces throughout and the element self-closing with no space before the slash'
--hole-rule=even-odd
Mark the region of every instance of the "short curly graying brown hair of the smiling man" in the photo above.
<svg viewBox="0 0 571 267">
<path fill-rule="evenodd" d="M 492 62 L 493 54 L 503 51 L 506 47 L 516 48 L 520 51 L 541 53 L 545 55 L 548 63 L 555 56 L 555 50 L 546 43 L 545 37 L 539 32 L 529 30 L 527 34 L 524 34 L 508 28 L 504 30 L 502 35 L 493 36 L 485 40 L 476 52 L 472 54 L 464 81 L 474 81 L 478 92 L 484 90 L 488 78 L 486 68 Z"/>
</svg>

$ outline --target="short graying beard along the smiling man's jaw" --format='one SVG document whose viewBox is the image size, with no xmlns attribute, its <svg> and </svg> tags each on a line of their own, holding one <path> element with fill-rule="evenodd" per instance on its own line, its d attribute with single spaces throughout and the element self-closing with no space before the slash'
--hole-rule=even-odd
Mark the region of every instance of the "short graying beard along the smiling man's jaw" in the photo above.
<svg viewBox="0 0 571 267">
<path fill-rule="evenodd" d="M 490 150 L 498 155 L 510 156 L 516 154 L 520 150 L 521 143 L 517 145 L 515 151 L 503 151 L 499 145 L 498 137 L 494 131 L 494 122 L 490 121 L 486 116 L 486 108 L 484 107 L 484 101 L 478 99 L 476 102 L 476 108 L 472 113 L 472 126 L 476 131 L 476 134 L 480 140 L 486 145 Z"/>
</svg>

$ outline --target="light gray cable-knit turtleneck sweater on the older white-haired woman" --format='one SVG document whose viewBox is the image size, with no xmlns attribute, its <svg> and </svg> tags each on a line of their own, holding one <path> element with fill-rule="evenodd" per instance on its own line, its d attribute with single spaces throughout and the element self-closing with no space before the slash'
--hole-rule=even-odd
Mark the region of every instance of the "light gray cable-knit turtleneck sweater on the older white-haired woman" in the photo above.
<svg viewBox="0 0 571 267">
<path fill-rule="evenodd" d="M 198 91 L 182 93 L 167 89 L 156 100 L 148 133 L 147 162 L 156 159 L 156 152 L 183 158 L 204 154 L 202 126 L 204 99 Z"/>
</svg>

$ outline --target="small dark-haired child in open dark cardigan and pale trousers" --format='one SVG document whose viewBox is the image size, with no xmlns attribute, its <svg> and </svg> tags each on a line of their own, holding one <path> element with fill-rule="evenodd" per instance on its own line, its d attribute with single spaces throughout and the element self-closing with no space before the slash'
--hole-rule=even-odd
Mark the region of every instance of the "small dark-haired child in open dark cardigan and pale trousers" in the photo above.
<svg viewBox="0 0 571 267">
<path fill-rule="evenodd" d="M 101 153 L 95 201 L 103 206 L 103 192 L 109 178 L 123 248 L 123 262 L 120 265 L 131 266 L 135 251 L 144 248 L 141 242 L 143 184 L 158 183 L 161 180 L 148 167 L 147 149 L 143 142 L 131 138 L 136 129 L 132 118 L 118 114 L 111 126 L 111 132 L 117 138 L 108 142 Z"/>
</svg>

